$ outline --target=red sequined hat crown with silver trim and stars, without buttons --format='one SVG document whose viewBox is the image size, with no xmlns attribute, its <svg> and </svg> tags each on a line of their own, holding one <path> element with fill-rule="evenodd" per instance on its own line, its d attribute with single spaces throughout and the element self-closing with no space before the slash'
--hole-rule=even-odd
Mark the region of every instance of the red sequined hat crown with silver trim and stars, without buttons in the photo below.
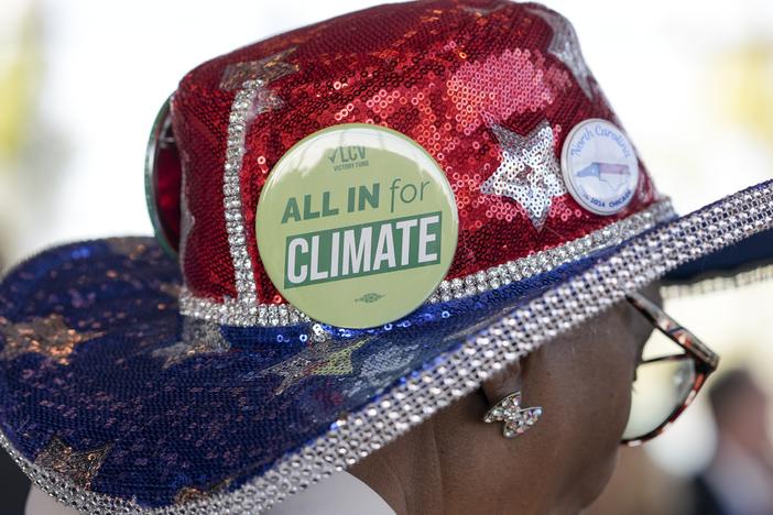
<svg viewBox="0 0 773 515">
<path fill-rule="evenodd" d="M 183 313 L 230 325 L 304 318 L 265 273 L 255 209 L 285 152 L 341 123 L 399 131 L 445 172 L 459 233 L 436 298 L 549 270 L 671 216 L 641 164 L 624 208 L 578 204 L 559 154 L 588 119 L 620 127 L 571 24 L 533 3 L 384 6 L 205 63 L 162 111 L 149 153 L 156 229 L 179 250 Z"/>
</svg>

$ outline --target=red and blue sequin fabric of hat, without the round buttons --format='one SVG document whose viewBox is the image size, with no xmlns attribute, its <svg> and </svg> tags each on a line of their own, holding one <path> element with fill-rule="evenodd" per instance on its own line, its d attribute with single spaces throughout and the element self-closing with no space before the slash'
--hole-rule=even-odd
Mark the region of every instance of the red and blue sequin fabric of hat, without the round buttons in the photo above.
<svg viewBox="0 0 773 515">
<path fill-rule="evenodd" d="M 504 1 L 389 4 L 186 75 L 172 101 L 188 217 L 181 262 L 151 239 L 96 240 L 3 278 L 0 443 L 86 513 L 259 513 L 627 289 L 773 228 L 771 183 L 682 219 L 643 167 L 611 217 L 559 193 L 551 157 L 570 128 L 619 125 L 566 23 Z M 460 213 L 455 261 L 431 302 L 368 330 L 284 304 L 254 241 L 273 164 L 341 122 L 417 141 Z M 208 315 L 182 315 L 186 298 Z M 269 324 L 211 321 L 230 308 Z"/>
</svg>

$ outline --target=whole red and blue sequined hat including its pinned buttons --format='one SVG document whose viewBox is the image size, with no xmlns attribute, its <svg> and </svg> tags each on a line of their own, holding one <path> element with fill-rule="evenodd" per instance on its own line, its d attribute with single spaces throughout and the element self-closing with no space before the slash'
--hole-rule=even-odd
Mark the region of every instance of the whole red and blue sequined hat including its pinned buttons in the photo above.
<svg viewBox="0 0 773 515">
<path fill-rule="evenodd" d="M 381 6 L 205 63 L 148 186 L 157 239 L 0 286 L 0 439 L 86 512 L 260 511 L 629 291 L 773 255 L 773 183 L 677 217 L 531 3 Z"/>
</svg>

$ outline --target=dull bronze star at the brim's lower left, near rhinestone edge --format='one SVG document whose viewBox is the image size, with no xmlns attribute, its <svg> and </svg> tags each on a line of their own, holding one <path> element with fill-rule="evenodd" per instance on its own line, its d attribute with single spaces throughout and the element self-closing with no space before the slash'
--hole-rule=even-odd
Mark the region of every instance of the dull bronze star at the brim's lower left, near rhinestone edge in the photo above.
<svg viewBox="0 0 773 515">
<path fill-rule="evenodd" d="M 35 458 L 35 464 L 58 472 L 76 485 L 88 489 L 109 451 L 109 445 L 75 451 L 58 437 L 53 437 Z"/>
</svg>

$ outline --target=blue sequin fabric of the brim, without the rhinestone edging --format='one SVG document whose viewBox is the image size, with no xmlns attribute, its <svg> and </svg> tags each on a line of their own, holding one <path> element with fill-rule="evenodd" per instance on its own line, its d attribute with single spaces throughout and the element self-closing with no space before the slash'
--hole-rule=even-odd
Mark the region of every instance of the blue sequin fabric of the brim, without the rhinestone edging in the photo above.
<svg viewBox="0 0 773 515">
<path fill-rule="evenodd" d="M 176 262 L 151 239 L 56 248 L 0 288 L 0 343 L 13 349 L 0 361 L 4 435 L 44 470 L 144 507 L 236 490 L 589 264 L 427 305 L 375 329 L 250 328 L 182 317 Z M 61 338 L 79 341 L 66 363 L 14 347 L 28 327 L 40 329 L 28 338 L 51 337 L 37 321 L 48 318 Z"/>
</svg>

